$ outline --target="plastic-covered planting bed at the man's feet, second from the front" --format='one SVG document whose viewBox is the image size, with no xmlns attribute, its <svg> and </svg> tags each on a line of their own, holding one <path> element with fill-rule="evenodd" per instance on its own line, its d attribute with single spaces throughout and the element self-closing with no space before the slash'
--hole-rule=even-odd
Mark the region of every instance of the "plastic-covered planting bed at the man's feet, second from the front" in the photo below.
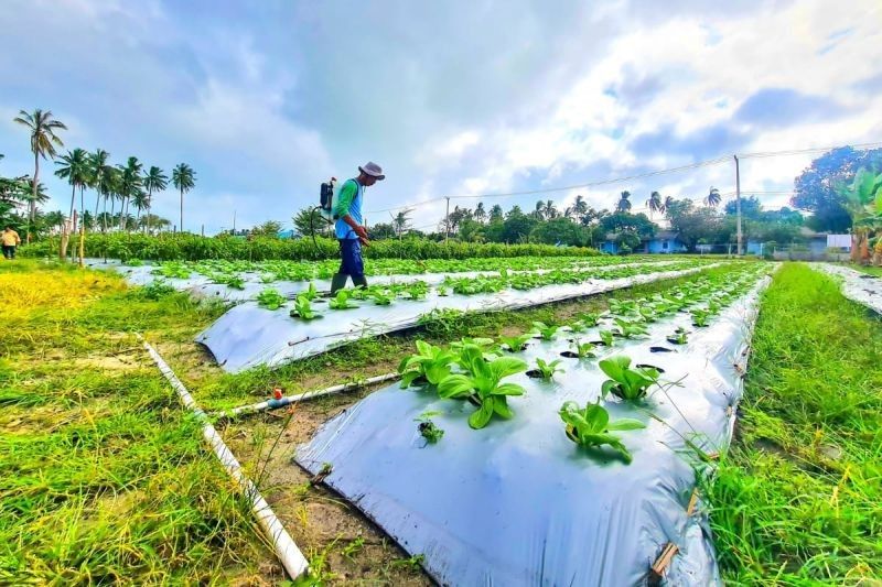
<svg viewBox="0 0 882 587">
<path fill-rule="evenodd" d="M 687 275 L 703 268 L 717 267 L 702 260 L 678 261 L 664 265 L 626 265 L 578 272 L 561 276 L 546 274 L 546 285 L 530 290 L 506 289 L 507 279 L 494 278 L 493 287 L 474 294 L 453 294 L 442 285 L 397 285 L 353 291 L 348 309 L 341 301 L 329 301 L 311 293 L 298 295 L 289 305 L 269 311 L 258 303 L 235 306 L 200 334 L 218 365 L 229 372 L 251 367 L 278 366 L 314 356 L 359 338 L 416 326 L 432 319 L 439 312 L 492 312 L 535 306 L 578 296 Z M 361 298 L 361 300 L 356 300 Z M 352 307 L 349 307 L 352 306 Z"/>
</svg>

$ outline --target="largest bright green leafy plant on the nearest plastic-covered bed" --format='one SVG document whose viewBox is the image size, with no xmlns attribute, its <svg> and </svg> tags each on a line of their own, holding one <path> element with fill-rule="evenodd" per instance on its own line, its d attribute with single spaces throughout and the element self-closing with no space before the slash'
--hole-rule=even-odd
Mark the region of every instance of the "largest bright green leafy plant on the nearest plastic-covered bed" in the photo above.
<svg viewBox="0 0 882 587">
<path fill-rule="evenodd" d="M 475 403 L 477 410 L 469 416 L 469 425 L 475 430 L 483 428 L 494 414 L 504 418 L 514 415 L 508 407 L 508 396 L 523 395 L 524 388 L 517 383 L 502 383 L 502 380 L 526 370 L 527 363 L 514 357 L 497 357 L 490 362 L 474 360 L 470 373 L 453 373 L 441 380 L 438 394 Z"/>
</svg>

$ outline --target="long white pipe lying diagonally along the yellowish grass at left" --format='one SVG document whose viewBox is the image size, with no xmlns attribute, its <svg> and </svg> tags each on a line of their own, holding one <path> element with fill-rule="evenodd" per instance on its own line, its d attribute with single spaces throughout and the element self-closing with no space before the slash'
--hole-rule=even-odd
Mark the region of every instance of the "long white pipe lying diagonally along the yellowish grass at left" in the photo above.
<svg viewBox="0 0 882 587">
<path fill-rule="evenodd" d="M 150 354 L 153 362 L 157 363 L 157 367 L 159 367 L 159 370 L 163 376 L 165 376 L 165 379 L 169 380 L 169 383 L 171 383 L 172 388 L 174 388 L 174 391 L 178 392 L 178 395 L 181 398 L 181 402 L 184 404 L 184 406 L 193 412 L 202 423 L 203 437 L 212 446 L 214 454 L 224 465 L 224 468 L 227 469 L 229 476 L 233 477 L 233 479 L 236 481 L 236 485 L 239 486 L 239 489 L 241 489 L 241 491 L 251 502 L 251 511 L 254 511 L 255 515 L 257 517 L 260 528 L 263 529 L 266 535 L 270 539 L 270 541 L 272 541 L 272 547 L 276 550 L 276 556 L 278 556 L 279 561 L 281 561 L 284 569 L 288 572 L 288 575 L 290 575 L 291 578 L 297 579 L 306 573 L 309 570 L 309 563 L 306 563 L 306 558 L 303 556 L 303 553 L 300 552 L 300 548 L 298 548 L 297 544 L 294 544 L 291 535 L 287 530 L 284 530 L 284 526 L 276 517 L 272 508 L 269 507 L 267 500 L 265 500 L 260 494 L 257 486 L 251 482 L 245 472 L 243 472 L 241 465 L 239 465 L 239 461 L 236 460 L 236 456 L 224 443 L 224 439 L 220 437 L 220 435 L 217 434 L 217 431 L 208 421 L 208 416 L 196 404 L 184 384 L 181 383 L 181 380 L 178 379 L 178 377 L 174 374 L 174 371 L 172 371 L 171 367 L 169 367 L 169 363 L 166 363 L 160 354 L 157 352 L 152 346 L 150 346 L 150 343 L 144 340 L 140 334 L 138 335 L 138 338 L 143 343 L 144 348 Z"/>
</svg>

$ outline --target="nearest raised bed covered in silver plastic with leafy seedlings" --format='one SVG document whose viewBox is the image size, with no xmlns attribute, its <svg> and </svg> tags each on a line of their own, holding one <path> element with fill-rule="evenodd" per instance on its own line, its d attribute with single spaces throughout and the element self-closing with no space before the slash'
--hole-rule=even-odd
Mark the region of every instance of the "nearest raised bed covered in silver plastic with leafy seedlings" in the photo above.
<svg viewBox="0 0 882 587">
<path fill-rule="evenodd" d="M 442 585 L 719 584 L 695 470 L 731 438 L 766 267 L 529 338 L 422 345 L 407 389 L 343 411 L 295 460 Z"/>
</svg>

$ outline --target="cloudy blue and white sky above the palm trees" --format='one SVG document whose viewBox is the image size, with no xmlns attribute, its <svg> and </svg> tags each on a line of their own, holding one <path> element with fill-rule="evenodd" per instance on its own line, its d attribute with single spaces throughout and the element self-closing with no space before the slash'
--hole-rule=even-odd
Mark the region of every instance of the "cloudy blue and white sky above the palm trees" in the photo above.
<svg viewBox="0 0 882 587">
<path fill-rule="evenodd" d="M 641 211 L 653 191 L 728 198 L 732 154 L 882 141 L 879 0 L 712 4 L 4 0 L 0 174 L 32 173 L 12 118 L 42 108 L 67 149 L 190 164 L 187 230 L 229 229 L 234 213 L 238 228 L 290 226 L 321 182 L 367 161 L 387 175 L 368 224 L 407 206 L 431 229 L 448 196 L 609 208 L 627 189 Z M 744 159 L 742 193 L 786 205 L 813 156 Z M 67 209 L 69 187 L 41 177 Z M 178 197 L 154 213 L 178 224 Z"/>
</svg>

